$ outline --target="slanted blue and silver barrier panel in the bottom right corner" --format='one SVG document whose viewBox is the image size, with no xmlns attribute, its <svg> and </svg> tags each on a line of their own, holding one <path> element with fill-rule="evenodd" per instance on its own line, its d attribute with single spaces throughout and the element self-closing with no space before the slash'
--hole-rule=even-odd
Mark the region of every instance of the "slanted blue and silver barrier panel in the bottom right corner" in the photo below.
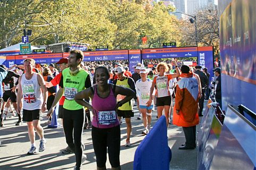
<svg viewBox="0 0 256 170">
<path fill-rule="evenodd" d="M 228 105 L 210 169 L 256 169 L 256 126 Z"/>
</svg>

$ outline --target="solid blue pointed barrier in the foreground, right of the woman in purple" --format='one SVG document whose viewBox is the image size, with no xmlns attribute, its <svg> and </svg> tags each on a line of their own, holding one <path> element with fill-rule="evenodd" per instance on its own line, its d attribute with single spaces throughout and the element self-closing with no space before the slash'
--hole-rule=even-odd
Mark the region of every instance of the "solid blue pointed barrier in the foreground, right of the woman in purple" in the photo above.
<svg viewBox="0 0 256 170">
<path fill-rule="evenodd" d="M 166 118 L 162 116 L 135 151 L 134 170 L 169 170 L 172 151 L 168 147 Z"/>
</svg>

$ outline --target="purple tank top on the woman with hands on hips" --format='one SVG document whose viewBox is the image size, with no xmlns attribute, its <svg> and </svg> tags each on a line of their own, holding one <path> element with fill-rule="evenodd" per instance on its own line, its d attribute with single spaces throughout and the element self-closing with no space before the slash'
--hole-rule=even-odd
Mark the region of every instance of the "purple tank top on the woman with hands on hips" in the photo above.
<svg viewBox="0 0 256 170">
<path fill-rule="evenodd" d="M 109 88 L 110 88 L 109 95 L 105 98 L 101 98 L 97 94 L 97 87 L 95 88 L 95 92 L 94 92 L 93 99 L 92 99 L 92 102 L 91 102 L 91 105 L 94 109 L 93 110 L 93 119 L 92 119 L 92 126 L 93 127 L 104 129 L 104 128 L 116 127 L 119 124 L 117 114 L 115 114 L 116 115 L 115 122 L 112 122 L 110 124 L 100 124 L 100 122 L 99 122 L 99 114 L 100 114 L 99 112 L 114 111 L 115 110 L 116 97 L 113 93 L 113 90 L 112 90 L 110 84 L 109 84 Z"/>
</svg>

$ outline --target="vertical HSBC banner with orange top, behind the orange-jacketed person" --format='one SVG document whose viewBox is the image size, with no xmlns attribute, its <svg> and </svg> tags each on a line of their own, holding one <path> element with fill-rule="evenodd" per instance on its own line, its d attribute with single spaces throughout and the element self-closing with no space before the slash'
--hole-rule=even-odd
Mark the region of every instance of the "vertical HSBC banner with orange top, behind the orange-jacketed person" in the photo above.
<svg viewBox="0 0 256 170">
<path fill-rule="evenodd" d="M 214 77 L 214 52 L 213 47 L 198 47 L 198 65 L 206 67 L 210 77 Z M 209 84 L 210 84 L 209 80 Z"/>
</svg>

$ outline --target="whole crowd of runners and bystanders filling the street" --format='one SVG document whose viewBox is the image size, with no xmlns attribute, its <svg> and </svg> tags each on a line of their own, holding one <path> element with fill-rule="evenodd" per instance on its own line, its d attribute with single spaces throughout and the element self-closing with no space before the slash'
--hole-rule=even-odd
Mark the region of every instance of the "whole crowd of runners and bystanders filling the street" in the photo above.
<svg viewBox="0 0 256 170">
<path fill-rule="evenodd" d="M 2 65 L 1 127 L 4 126 L 5 107 L 11 102 L 19 117 L 16 126 L 22 120 L 27 122 L 31 143 L 27 154 L 44 151 L 46 139 L 40 126 L 42 112 L 48 111 L 50 123 L 59 103 L 58 117 L 62 120 L 67 143 L 62 153 L 75 154 L 74 169 L 80 169 L 87 159 L 83 154 L 85 148 L 82 144 L 82 131 L 87 128 L 92 131 L 97 169 L 106 169 L 107 149 L 112 169 L 121 169 L 120 125 L 122 118 L 125 119 L 127 136 L 124 146 L 129 147 L 132 145 L 131 118 L 134 117 L 131 100 L 134 99 L 141 114 L 138 119 L 142 117 L 143 135 L 150 132 L 151 112 L 156 105 L 157 118 L 164 115 L 167 128 L 171 120 L 170 114 L 173 114 L 173 124 L 183 127 L 186 142 L 179 149 L 194 149 L 195 126 L 202 116 L 201 101 L 204 100 L 209 84 L 207 69 L 203 72 L 201 66 L 196 66 L 194 71 L 186 65 L 178 66 L 176 59 L 171 59 L 168 64 L 158 62 L 156 68 L 151 69 L 138 63 L 132 74 L 127 64 L 126 61 L 83 62 L 83 52 L 72 50 L 69 58 L 62 58 L 56 64 L 43 66 L 39 70 L 35 68 L 33 59 L 25 59 L 23 66 L 6 68 Z M 60 68 L 59 72 L 56 66 Z M 220 77 L 220 68 L 214 71 Z M 216 84 L 217 92 L 220 79 L 217 78 Z M 59 86 L 58 91 L 56 85 Z M 219 95 L 216 95 L 216 99 L 217 97 L 219 99 Z M 35 145 L 35 130 L 40 137 L 39 148 Z"/>
</svg>

